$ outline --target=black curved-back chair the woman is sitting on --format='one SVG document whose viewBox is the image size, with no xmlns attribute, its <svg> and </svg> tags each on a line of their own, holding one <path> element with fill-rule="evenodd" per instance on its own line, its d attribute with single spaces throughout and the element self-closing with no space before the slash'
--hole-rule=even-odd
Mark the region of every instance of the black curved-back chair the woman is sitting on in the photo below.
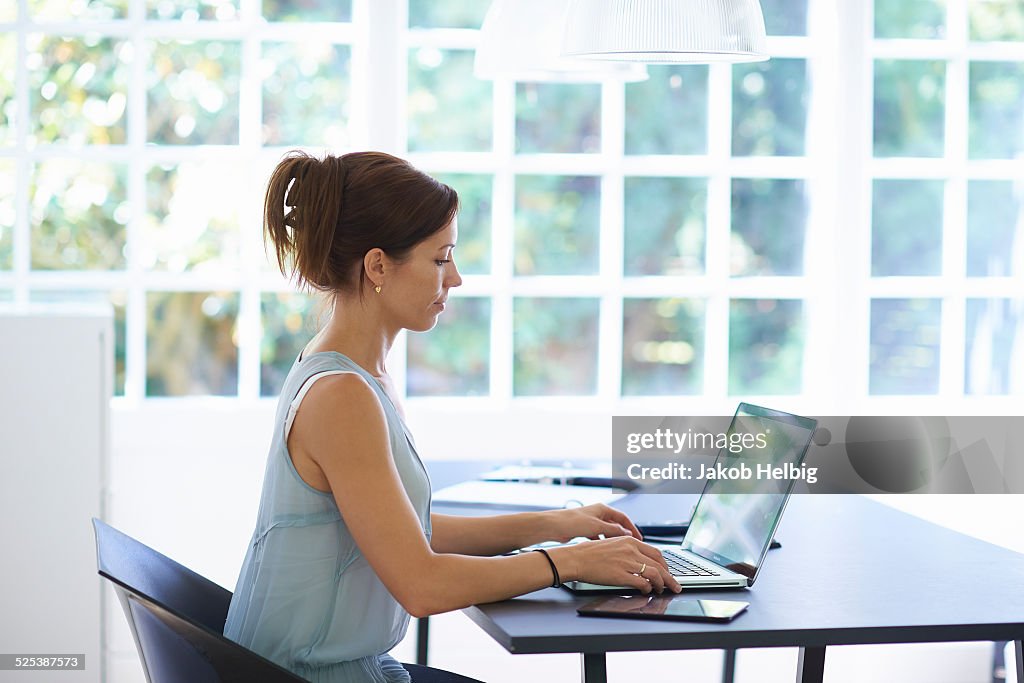
<svg viewBox="0 0 1024 683">
<path fill-rule="evenodd" d="M 150 683 L 305 680 L 224 637 L 230 591 L 98 519 L 92 526 L 99 575 L 114 585 Z M 414 681 L 479 683 L 403 666 Z"/>
</svg>

